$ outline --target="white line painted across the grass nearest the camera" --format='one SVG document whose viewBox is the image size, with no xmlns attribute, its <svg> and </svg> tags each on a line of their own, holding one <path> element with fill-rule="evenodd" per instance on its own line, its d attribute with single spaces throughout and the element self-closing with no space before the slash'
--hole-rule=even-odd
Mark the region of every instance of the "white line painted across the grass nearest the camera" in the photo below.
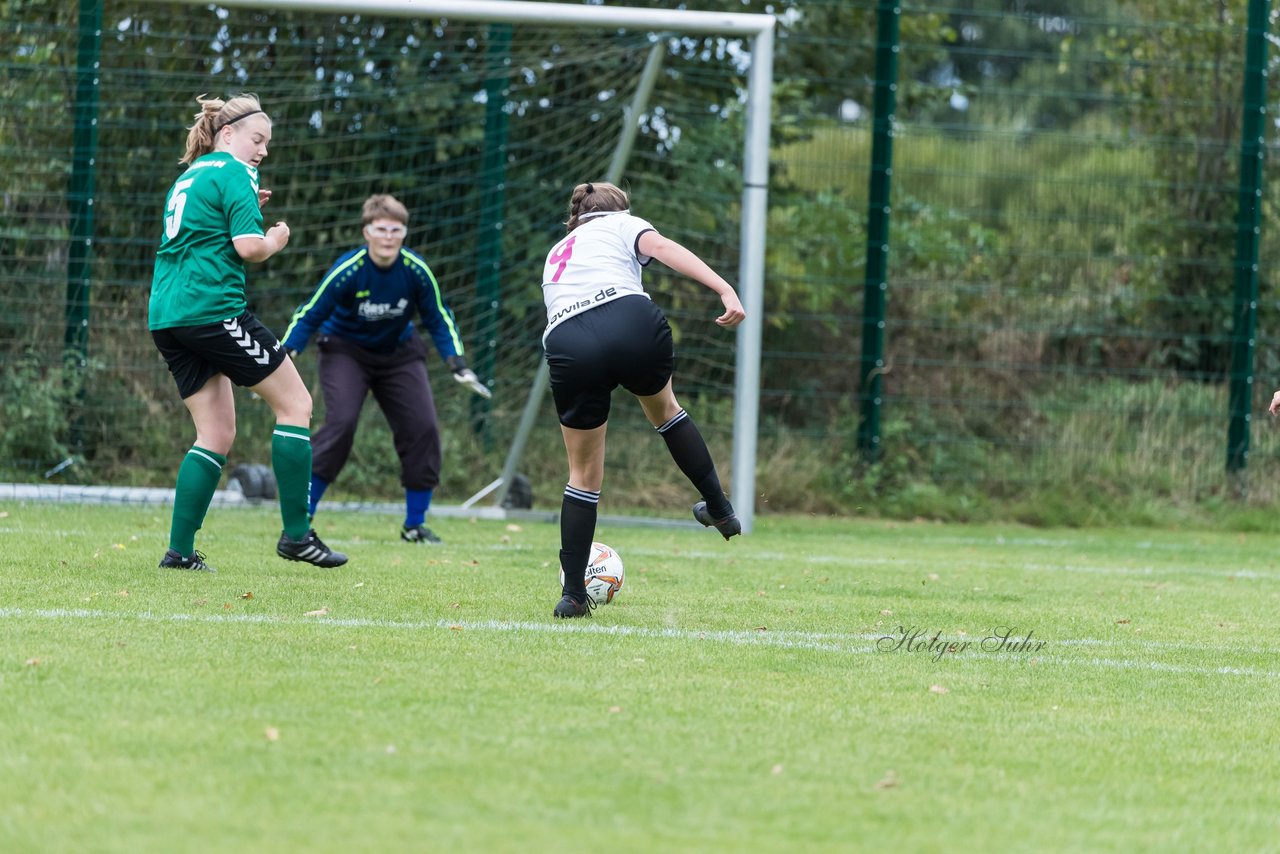
<svg viewBox="0 0 1280 854">
<path fill-rule="evenodd" d="M 772 647 L 781 649 L 804 649 L 815 652 L 829 652 L 840 654 L 902 654 L 934 658 L 933 653 L 924 650 L 915 652 L 884 652 L 877 648 L 876 641 L 886 635 L 896 638 L 900 632 L 884 634 L 850 634 L 850 635 L 824 635 L 801 631 L 742 631 L 742 630 L 708 630 L 694 629 L 652 629 L 645 626 L 617 626 L 599 624 L 547 624 L 547 622 L 521 622 L 504 620 L 370 620 L 370 618 L 334 618 L 334 617 L 279 617 L 270 615 L 188 615 L 188 613 L 155 613 L 142 611 L 137 613 L 119 613 L 110 611 L 95 611 L 88 608 L 0 608 L 0 620 L 114 620 L 114 621 L 140 621 L 140 622 L 168 622 L 168 624 L 212 624 L 212 625 L 274 625 L 274 626 L 332 626 L 337 629 L 390 629 L 402 631 L 488 631 L 507 634 L 582 634 L 625 638 L 654 638 L 691 640 L 699 643 L 722 643 L 744 647 Z M 963 639 L 945 639 L 963 640 Z M 980 640 L 974 638 L 973 640 Z M 1018 641 L 1019 638 L 1010 640 Z M 1037 639 L 1041 640 L 1041 639 Z M 1114 641 L 1075 639 L 1075 640 L 1044 640 L 1047 647 L 1056 644 L 1107 644 Z M 1216 649 L 1204 647 L 1204 650 Z M 1219 652 L 1228 652 L 1217 649 Z M 1236 652 L 1236 650 L 1230 650 Z M 969 662 L 973 659 L 998 661 L 1012 659 L 1025 662 L 1034 659 L 1037 663 L 1057 665 L 1071 667 L 1079 665 L 1092 665 L 1094 667 L 1107 667 L 1119 670 L 1148 670 L 1171 673 L 1197 673 L 1197 675 L 1222 675 L 1222 676 L 1257 676 L 1262 679 L 1280 679 L 1280 671 L 1257 670 L 1253 667 L 1204 667 L 1198 665 L 1178 665 L 1156 661 L 1135 661 L 1132 658 L 1062 658 L 1050 654 L 1012 653 L 1012 652 L 968 652 L 943 656 L 947 661 Z"/>
</svg>

